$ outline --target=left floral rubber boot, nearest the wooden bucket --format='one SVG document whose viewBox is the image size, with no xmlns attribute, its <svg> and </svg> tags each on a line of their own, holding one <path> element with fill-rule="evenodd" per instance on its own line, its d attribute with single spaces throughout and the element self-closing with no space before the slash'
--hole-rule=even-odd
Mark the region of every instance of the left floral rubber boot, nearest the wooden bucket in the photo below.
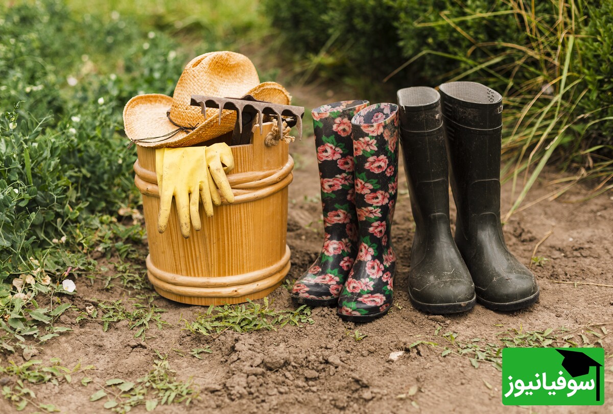
<svg viewBox="0 0 613 414">
<path fill-rule="evenodd" d="M 367 106 L 367 100 L 345 100 L 322 105 L 311 112 L 326 236 L 317 260 L 294 283 L 291 296 L 298 303 L 308 306 L 337 304 L 356 260 L 351 118 Z"/>
</svg>

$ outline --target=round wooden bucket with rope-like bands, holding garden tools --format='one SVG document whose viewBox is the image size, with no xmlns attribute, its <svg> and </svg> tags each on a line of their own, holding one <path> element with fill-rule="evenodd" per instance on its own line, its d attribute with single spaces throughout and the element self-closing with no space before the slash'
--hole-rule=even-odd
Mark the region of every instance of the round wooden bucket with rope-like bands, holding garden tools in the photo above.
<svg viewBox="0 0 613 414">
<path fill-rule="evenodd" d="M 173 301 L 195 305 L 242 303 L 275 290 L 289 271 L 287 186 L 294 160 L 288 145 L 265 146 L 254 127 L 249 145 L 232 146 L 234 170 L 228 177 L 235 201 L 214 206 L 202 230 L 181 236 L 175 203 L 168 227 L 158 232 L 159 192 L 155 149 L 138 147 L 134 183 L 143 195 L 149 243 L 147 276 L 155 290 Z"/>
</svg>

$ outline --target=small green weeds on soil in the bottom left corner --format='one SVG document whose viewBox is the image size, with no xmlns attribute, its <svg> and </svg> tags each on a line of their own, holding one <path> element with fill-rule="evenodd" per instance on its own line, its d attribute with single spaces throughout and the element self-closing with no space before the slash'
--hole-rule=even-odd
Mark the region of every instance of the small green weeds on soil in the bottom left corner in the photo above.
<svg viewBox="0 0 613 414">
<path fill-rule="evenodd" d="M 51 358 L 48 365 L 44 365 L 41 359 L 31 359 L 21 365 L 9 361 L 8 366 L 0 366 L 0 372 L 6 374 L 10 380 L 2 387 L 2 395 L 13 402 L 18 411 L 25 409 L 29 404 L 38 410 L 59 412 L 58 407 L 53 404 L 36 401 L 36 394 L 29 387 L 45 383 L 56 386 L 60 382 L 70 383 L 72 375 L 94 369 L 93 365 L 82 367 L 81 363 L 77 363 L 74 367 L 69 368 L 60 363 L 59 358 Z"/>
</svg>

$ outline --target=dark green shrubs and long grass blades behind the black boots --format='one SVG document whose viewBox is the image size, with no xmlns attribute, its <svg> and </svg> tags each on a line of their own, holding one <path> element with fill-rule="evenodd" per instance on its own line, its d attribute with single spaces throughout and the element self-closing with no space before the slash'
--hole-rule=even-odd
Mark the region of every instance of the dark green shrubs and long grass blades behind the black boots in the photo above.
<svg viewBox="0 0 613 414">
<path fill-rule="evenodd" d="M 611 0 L 262 0 L 306 77 L 395 101 L 408 86 L 501 92 L 503 179 L 523 202 L 546 164 L 613 189 Z M 292 53 L 293 52 L 293 53 Z"/>
</svg>

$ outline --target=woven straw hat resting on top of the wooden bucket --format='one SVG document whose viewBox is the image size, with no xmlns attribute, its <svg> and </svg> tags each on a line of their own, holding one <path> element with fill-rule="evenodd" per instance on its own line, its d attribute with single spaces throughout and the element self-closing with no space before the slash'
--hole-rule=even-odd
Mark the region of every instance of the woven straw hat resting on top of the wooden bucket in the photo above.
<svg viewBox="0 0 613 414">
<path fill-rule="evenodd" d="M 231 51 L 205 53 L 183 70 L 172 96 L 135 96 L 123 110 L 126 135 L 150 148 L 191 146 L 234 129 L 236 112 L 192 107 L 192 95 L 240 98 L 252 95 L 266 102 L 289 105 L 291 96 L 276 82 L 260 83 L 256 68 L 244 55 Z"/>
</svg>

